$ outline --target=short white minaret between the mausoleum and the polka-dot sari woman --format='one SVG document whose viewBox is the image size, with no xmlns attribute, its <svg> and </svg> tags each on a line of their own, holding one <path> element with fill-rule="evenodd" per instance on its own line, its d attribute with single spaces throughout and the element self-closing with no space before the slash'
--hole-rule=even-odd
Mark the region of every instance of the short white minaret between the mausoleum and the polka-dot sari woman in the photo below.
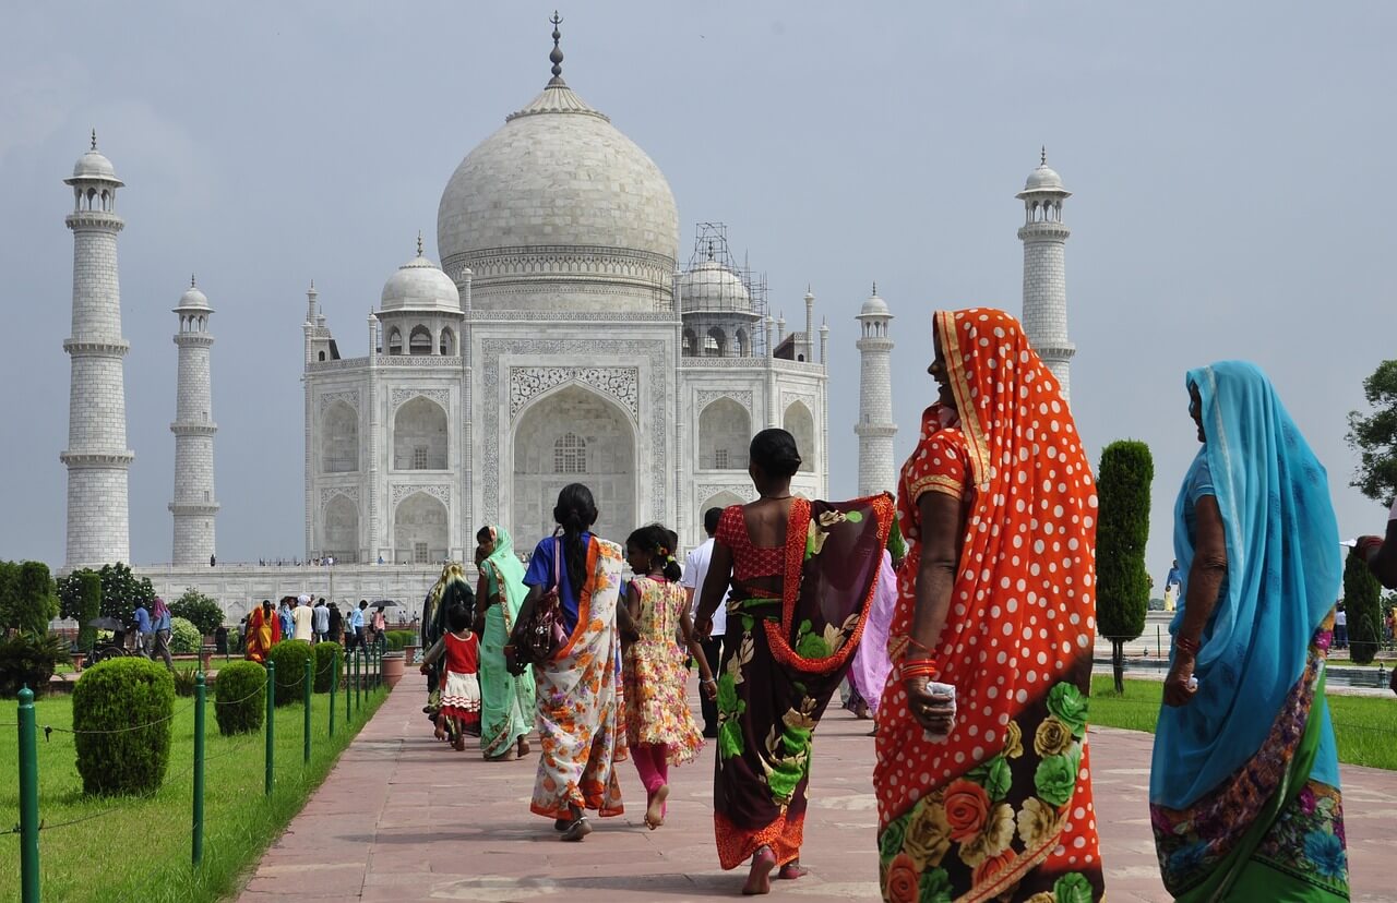
<svg viewBox="0 0 1397 903">
<path fill-rule="evenodd" d="M 893 314 L 887 303 L 873 294 L 859 308 L 859 495 L 897 491 L 893 465 L 893 339 L 888 329 Z"/>
</svg>

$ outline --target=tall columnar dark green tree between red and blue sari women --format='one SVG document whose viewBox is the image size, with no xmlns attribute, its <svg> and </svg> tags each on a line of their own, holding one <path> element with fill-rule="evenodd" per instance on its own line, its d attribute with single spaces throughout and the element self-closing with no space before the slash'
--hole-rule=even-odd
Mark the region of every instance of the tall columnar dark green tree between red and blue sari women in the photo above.
<svg viewBox="0 0 1397 903">
<path fill-rule="evenodd" d="M 1150 447 L 1120 440 L 1101 452 L 1097 473 L 1097 629 L 1111 641 L 1116 692 L 1125 692 L 1125 646 L 1144 631 L 1150 575 Z"/>
</svg>

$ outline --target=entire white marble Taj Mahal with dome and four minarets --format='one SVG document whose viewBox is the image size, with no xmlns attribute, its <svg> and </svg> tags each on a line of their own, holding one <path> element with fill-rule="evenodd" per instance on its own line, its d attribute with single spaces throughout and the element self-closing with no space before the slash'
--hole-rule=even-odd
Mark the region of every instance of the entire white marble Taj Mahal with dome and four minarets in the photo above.
<svg viewBox="0 0 1397 903">
<path fill-rule="evenodd" d="M 698 223 L 682 253 L 665 174 L 564 81 L 557 22 L 552 38 L 543 89 L 446 181 L 440 262 L 422 236 L 415 251 L 404 241 L 408 260 L 366 321 L 331 322 L 314 285 L 306 292 L 298 551 L 332 567 L 210 567 L 221 505 L 214 401 L 235 392 L 217 385 L 212 303 L 193 281 L 179 297 L 172 564 L 137 567 L 156 592 L 197 588 L 233 618 L 295 592 L 415 606 L 443 560 L 469 561 L 482 525 L 506 525 L 521 548 L 552 532 L 553 500 L 571 482 L 592 488 L 599 535 L 623 539 L 658 521 L 687 548 L 704 537 L 707 508 L 754 498 L 747 442 L 773 426 L 803 455 L 792 490 L 827 497 L 831 469 L 852 466 L 828 455 L 831 331 L 852 334 L 861 353 L 858 421 L 835 424 L 859 437 L 858 490 L 894 488 L 890 304 L 875 286 L 852 322 L 831 329 L 807 290 L 803 321 L 787 324 L 768 308 L 764 276 L 736 262 L 724 225 Z M 162 359 L 129 353 L 122 338 L 124 184 L 95 134 L 64 181 L 74 197 L 67 571 L 129 560 L 123 368 Z M 1045 155 L 1017 194 L 1021 317 L 1065 394 L 1067 197 Z M 921 300 L 918 315 L 929 308 Z M 928 356 L 926 345 L 911 353 Z"/>
</svg>

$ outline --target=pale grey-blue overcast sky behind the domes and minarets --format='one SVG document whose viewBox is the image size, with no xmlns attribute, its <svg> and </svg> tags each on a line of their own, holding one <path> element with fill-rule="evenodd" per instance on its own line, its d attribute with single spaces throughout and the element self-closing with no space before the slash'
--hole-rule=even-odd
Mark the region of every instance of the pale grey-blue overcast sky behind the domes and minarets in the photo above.
<svg viewBox="0 0 1397 903">
<path fill-rule="evenodd" d="M 341 349 L 461 158 L 548 80 L 550 6 L 4 4 L 0 33 L 0 558 L 64 554 L 71 207 L 88 130 L 119 209 L 131 557 L 170 558 L 175 306 L 217 308 L 218 554 L 303 554 L 302 331 L 313 278 Z M 1154 449 L 1150 571 L 1196 452 L 1186 368 L 1260 363 L 1326 463 L 1340 529 L 1345 413 L 1397 357 L 1397 7 L 1382 3 L 587 3 L 564 77 L 669 179 L 693 225 L 831 327 L 831 494 L 855 491 L 854 315 L 897 321 L 898 458 L 935 395 L 930 311 L 1018 313 L 1039 145 L 1065 221 L 1071 388 L 1092 459 Z M 1384 174 L 1387 173 L 1387 174 Z M 798 327 L 792 327 L 798 328 Z"/>
</svg>

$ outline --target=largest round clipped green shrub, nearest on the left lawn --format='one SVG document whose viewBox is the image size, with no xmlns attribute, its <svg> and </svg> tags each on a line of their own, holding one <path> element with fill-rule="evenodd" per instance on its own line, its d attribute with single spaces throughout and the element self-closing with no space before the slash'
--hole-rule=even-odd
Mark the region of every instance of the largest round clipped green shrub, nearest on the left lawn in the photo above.
<svg viewBox="0 0 1397 903">
<path fill-rule="evenodd" d="M 154 793 L 170 761 L 175 680 L 148 659 L 120 657 L 82 671 L 73 731 L 84 793 Z"/>
</svg>

